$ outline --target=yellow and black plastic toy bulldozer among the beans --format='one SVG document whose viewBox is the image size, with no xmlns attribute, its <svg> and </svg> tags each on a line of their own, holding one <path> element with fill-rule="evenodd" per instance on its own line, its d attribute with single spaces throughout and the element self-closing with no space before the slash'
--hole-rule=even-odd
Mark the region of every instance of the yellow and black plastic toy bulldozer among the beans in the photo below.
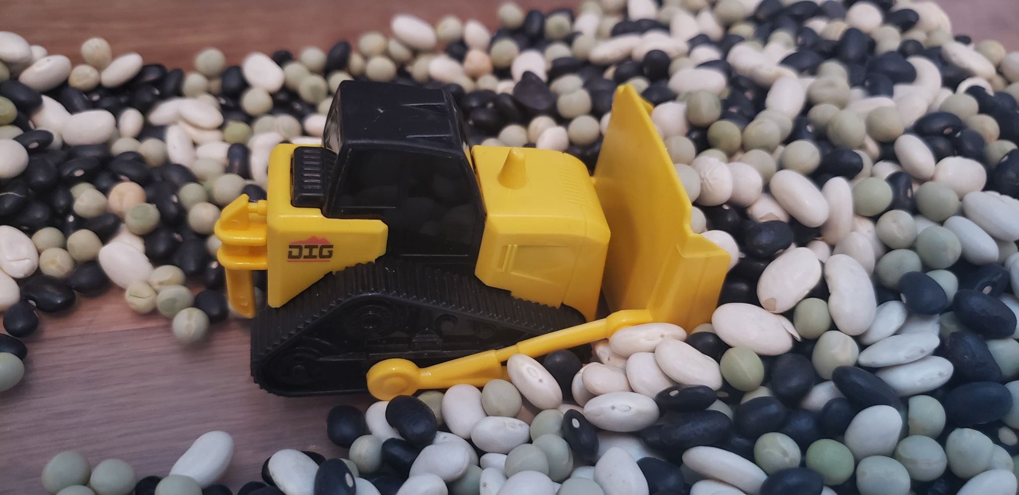
<svg viewBox="0 0 1019 495">
<path fill-rule="evenodd" d="M 389 399 L 502 378 L 514 353 L 707 322 L 729 255 L 691 230 L 649 110 L 616 91 L 591 177 L 564 153 L 469 147 L 442 91 L 342 82 L 323 146 L 277 146 L 267 200 L 216 224 L 255 381 Z M 268 271 L 259 311 L 253 270 Z"/>
</svg>

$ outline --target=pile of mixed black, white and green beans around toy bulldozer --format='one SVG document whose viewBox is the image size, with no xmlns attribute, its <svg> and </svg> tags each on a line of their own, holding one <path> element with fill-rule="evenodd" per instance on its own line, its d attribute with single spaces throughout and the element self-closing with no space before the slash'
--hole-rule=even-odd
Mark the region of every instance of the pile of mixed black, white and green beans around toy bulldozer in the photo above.
<svg viewBox="0 0 1019 495">
<path fill-rule="evenodd" d="M 1019 52 L 933 2 L 586 0 L 499 28 L 397 15 L 391 36 L 195 70 L 85 63 L 0 33 L 0 390 L 36 311 L 112 281 L 183 342 L 227 317 L 219 208 L 264 198 L 268 153 L 317 143 L 340 81 L 441 88 L 472 143 L 589 166 L 634 86 L 732 255 L 711 322 L 656 323 L 509 381 L 340 405 L 346 458 L 284 449 L 255 495 L 1012 495 L 1019 454 Z M 156 267 L 155 265 L 161 265 Z M 192 296 L 186 277 L 206 290 Z M 194 307 L 194 308 L 193 308 Z M 203 435 L 165 478 L 62 452 L 60 495 L 218 495 Z"/>
</svg>

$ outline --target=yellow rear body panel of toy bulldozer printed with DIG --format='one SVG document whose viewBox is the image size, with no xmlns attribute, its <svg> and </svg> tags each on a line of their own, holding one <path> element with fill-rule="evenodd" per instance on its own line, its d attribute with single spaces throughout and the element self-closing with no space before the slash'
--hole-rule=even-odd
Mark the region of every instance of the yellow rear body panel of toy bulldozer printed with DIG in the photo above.
<svg viewBox="0 0 1019 495">
<path fill-rule="evenodd" d="M 297 147 L 273 149 L 267 200 L 258 203 L 257 212 L 249 212 L 249 225 L 234 214 L 251 209 L 247 196 L 228 205 L 216 223 L 216 235 L 223 241 L 218 259 L 227 273 L 230 304 L 249 318 L 255 316 L 251 275 L 231 271 L 268 269 L 266 302 L 279 308 L 327 273 L 374 261 L 385 253 L 388 228 L 381 220 L 326 218 L 318 208 L 290 204 L 290 160 Z"/>
</svg>

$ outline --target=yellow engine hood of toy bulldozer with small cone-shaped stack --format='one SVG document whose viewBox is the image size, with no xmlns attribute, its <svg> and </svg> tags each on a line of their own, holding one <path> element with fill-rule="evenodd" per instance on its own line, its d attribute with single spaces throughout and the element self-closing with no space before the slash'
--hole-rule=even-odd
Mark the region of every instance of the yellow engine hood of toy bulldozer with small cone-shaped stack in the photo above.
<svg viewBox="0 0 1019 495">
<path fill-rule="evenodd" d="M 475 275 L 593 320 L 609 233 L 587 168 L 550 150 L 471 151 L 486 211 Z"/>
</svg>

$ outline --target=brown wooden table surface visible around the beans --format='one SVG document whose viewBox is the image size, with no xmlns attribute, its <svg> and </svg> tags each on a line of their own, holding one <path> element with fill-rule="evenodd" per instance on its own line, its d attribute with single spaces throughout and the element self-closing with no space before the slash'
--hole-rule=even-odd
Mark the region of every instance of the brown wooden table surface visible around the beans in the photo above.
<svg viewBox="0 0 1019 495">
<path fill-rule="evenodd" d="M 1019 49 L 1014 0 L 945 0 L 954 29 L 976 40 Z M 361 3 L 361 2 L 358 2 Z M 539 0 L 521 0 L 525 7 Z M 345 6 L 350 4 L 351 6 Z M 0 31 L 78 63 L 77 48 L 103 36 L 114 53 L 137 51 L 146 61 L 192 67 L 207 46 L 230 63 L 250 51 L 328 49 L 366 29 L 388 32 L 390 17 L 411 12 L 430 21 L 445 13 L 494 23 L 496 0 L 35 0 L 0 2 Z M 569 4 L 569 3 L 566 3 Z M 249 337 L 242 321 L 215 327 L 201 345 L 181 348 L 167 320 L 141 317 L 122 291 L 82 299 L 68 315 L 46 318 L 28 339 L 24 381 L 0 394 L 0 494 L 44 493 L 39 475 L 50 456 L 73 449 L 95 465 L 122 458 L 139 476 L 165 476 L 199 435 L 224 430 L 235 453 L 224 483 L 236 490 L 259 477 L 262 461 L 281 448 L 342 449 L 325 436 L 326 411 L 367 396 L 281 398 L 260 390 L 249 374 Z"/>
</svg>

